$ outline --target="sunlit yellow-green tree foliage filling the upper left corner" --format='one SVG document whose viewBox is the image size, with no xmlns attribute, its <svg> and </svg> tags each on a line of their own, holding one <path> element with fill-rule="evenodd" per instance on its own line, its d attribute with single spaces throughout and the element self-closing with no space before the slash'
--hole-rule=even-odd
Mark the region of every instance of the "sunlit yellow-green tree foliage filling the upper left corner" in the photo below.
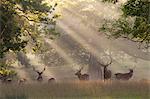
<svg viewBox="0 0 150 99">
<path fill-rule="evenodd" d="M 31 42 L 34 49 L 39 48 L 40 35 L 59 17 L 54 14 L 56 6 L 45 0 L 1 0 L 0 57 L 9 51 L 23 50 Z"/>
</svg>

